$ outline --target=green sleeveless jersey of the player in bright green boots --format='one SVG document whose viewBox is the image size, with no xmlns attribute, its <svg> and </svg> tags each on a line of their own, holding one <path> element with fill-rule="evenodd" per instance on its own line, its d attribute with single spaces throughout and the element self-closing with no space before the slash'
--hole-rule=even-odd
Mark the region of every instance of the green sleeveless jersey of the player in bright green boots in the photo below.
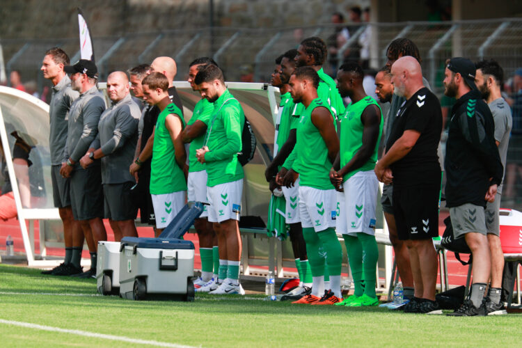
<svg viewBox="0 0 522 348">
<path fill-rule="evenodd" d="M 346 108 L 346 112 L 340 117 L 341 120 L 341 139 L 340 139 L 340 156 L 341 156 L 341 168 L 345 166 L 355 153 L 363 146 L 363 129 L 364 125 L 361 122 L 361 115 L 367 106 L 377 105 L 379 110 L 381 106 L 377 104 L 372 97 L 367 96 L 359 100 L 355 104 L 349 104 Z M 359 171 L 372 171 L 377 163 L 377 150 L 381 141 L 383 127 L 383 118 L 381 111 L 381 122 L 379 123 L 379 138 L 375 144 L 375 148 L 372 152 L 372 157 L 366 161 L 361 168 L 357 168 L 354 171 L 347 173 L 343 179 L 348 180 L 352 175 Z"/>
</svg>

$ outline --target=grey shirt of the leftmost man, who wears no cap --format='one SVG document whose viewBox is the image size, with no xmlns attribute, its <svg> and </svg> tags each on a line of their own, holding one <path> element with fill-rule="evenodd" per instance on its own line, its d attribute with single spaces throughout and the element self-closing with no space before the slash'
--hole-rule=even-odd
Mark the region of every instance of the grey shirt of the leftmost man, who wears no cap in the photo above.
<svg viewBox="0 0 522 348">
<path fill-rule="evenodd" d="M 71 88 L 71 80 L 67 75 L 52 88 L 52 97 L 49 103 L 49 122 L 51 124 L 49 150 L 51 152 L 51 164 L 53 166 L 62 164 L 65 159 L 69 111 L 72 102 L 74 102 L 79 95 L 80 93 Z"/>
</svg>

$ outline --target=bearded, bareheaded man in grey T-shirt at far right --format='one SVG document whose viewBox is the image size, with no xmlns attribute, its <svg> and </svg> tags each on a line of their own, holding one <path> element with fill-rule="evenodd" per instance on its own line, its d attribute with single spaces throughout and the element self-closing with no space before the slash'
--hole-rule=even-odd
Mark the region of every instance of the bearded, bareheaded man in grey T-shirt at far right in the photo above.
<svg viewBox="0 0 522 348">
<path fill-rule="evenodd" d="M 497 61 L 479 61 L 475 63 L 477 72 L 475 74 L 475 84 L 477 85 L 482 99 L 484 99 L 493 114 L 495 122 L 495 143 L 498 146 L 500 160 L 505 168 L 507 157 L 507 144 L 509 143 L 509 133 L 513 126 L 513 119 L 509 104 L 500 94 L 500 86 L 503 85 L 504 71 Z M 500 245 L 500 195 L 503 184 L 498 185 L 497 194 L 493 203 L 486 205 L 486 228 L 491 251 L 491 283 L 489 285 L 488 296 L 483 307 L 487 314 L 506 314 L 503 303 L 500 301 L 502 294 L 502 274 L 504 269 L 504 253 Z"/>
</svg>

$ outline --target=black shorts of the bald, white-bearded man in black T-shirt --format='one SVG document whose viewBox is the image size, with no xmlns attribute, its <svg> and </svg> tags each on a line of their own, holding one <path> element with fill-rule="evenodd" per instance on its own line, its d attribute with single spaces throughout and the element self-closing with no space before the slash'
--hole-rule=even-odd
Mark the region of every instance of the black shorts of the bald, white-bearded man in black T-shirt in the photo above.
<svg viewBox="0 0 522 348">
<path fill-rule="evenodd" d="M 393 186 L 393 215 L 400 240 L 438 237 L 439 186 Z"/>
</svg>

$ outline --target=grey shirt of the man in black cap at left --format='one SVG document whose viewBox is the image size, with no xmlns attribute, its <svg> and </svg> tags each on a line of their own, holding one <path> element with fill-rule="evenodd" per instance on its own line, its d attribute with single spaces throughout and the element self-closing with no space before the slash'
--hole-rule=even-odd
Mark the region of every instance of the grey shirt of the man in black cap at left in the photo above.
<svg viewBox="0 0 522 348">
<path fill-rule="evenodd" d="M 102 93 L 93 86 L 85 93 L 81 93 L 72 103 L 69 111 L 69 129 L 65 161 L 70 157 L 78 162 L 89 149 L 98 133 L 98 121 L 105 110 L 105 101 Z M 79 164 L 74 164 L 78 167 Z"/>
</svg>

